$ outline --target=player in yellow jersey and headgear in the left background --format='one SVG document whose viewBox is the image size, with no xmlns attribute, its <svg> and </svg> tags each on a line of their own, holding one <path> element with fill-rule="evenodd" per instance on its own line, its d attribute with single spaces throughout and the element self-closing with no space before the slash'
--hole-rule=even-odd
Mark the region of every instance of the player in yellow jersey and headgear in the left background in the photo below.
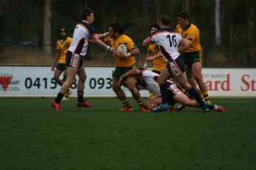
<svg viewBox="0 0 256 170">
<path fill-rule="evenodd" d="M 68 49 L 70 48 L 72 38 L 67 36 L 67 29 L 65 29 L 64 27 L 60 29 L 60 34 L 61 38 L 59 38 L 56 43 L 57 53 L 53 61 L 52 71 L 54 71 L 53 78 L 55 79 L 55 82 L 57 82 L 58 85 L 63 85 L 64 82 L 59 77 L 61 76 L 61 73 L 64 72 L 64 79 L 66 79 L 66 54 Z M 65 94 L 64 99 L 68 99 L 70 93 L 71 91 L 68 91 Z"/>
</svg>

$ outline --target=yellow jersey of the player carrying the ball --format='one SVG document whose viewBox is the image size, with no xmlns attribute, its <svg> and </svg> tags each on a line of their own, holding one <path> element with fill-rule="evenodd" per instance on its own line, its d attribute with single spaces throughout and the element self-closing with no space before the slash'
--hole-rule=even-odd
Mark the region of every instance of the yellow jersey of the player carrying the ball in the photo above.
<svg viewBox="0 0 256 170">
<path fill-rule="evenodd" d="M 104 38 L 104 43 L 107 43 L 109 46 L 112 46 L 112 48 L 114 49 L 118 49 L 118 46 L 123 43 L 127 47 L 127 52 L 132 51 L 132 49 L 138 48 L 133 42 L 133 40 L 129 38 L 127 35 L 120 35 L 120 37 L 116 40 L 107 36 L 107 38 Z M 119 58 L 116 57 L 115 55 L 113 55 L 113 57 L 115 59 L 115 64 L 118 67 L 129 67 L 135 64 L 135 58 L 133 56 L 128 57 L 124 60 L 119 60 Z"/>
</svg>

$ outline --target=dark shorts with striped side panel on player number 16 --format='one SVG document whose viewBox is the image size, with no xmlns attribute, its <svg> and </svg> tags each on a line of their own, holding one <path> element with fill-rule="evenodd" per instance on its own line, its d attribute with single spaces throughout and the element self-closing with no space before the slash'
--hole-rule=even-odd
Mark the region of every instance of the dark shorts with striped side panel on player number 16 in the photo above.
<svg viewBox="0 0 256 170">
<path fill-rule="evenodd" d="M 175 60 L 167 62 L 166 68 L 168 69 L 169 74 L 171 74 L 171 77 L 176 77 L 185 71 L 184 60 L 179 56 Z"/>
</svg>

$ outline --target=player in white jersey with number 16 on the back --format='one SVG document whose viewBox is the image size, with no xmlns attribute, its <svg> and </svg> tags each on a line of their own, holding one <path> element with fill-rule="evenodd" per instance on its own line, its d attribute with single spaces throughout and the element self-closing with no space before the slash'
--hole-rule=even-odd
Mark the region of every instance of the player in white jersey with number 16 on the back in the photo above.
<svg viewBox="0 0 256 170">
<path fill-rule="evenodd" d="M 184 70 L 184 61 L 180 57 L 180 53 L 183 53 L 189 44 L 186 40 L 181 38 L 181 35 L 176 32 L 172 32 L 169 29 L 170 18 L 168 15 L 163 15 L 160 20 L 161 29 L 155 32 L 149 38 L 146 38 L 142 43 L 143 46 L 147 46 L 149 43 L 155 42 L 161 49 L 161 53 L 164 55 L 166 60 L 166 68 L 161 72 L 160 77 L 158 77 L 158 83 L 161 90 L 162 103 L 160 106 L 154 109 L 155 112 L 161 112 L 163 110 L 168 110 L 169 105 L 167 102 L 167 86 L 166 79 L 169 77 L 174 77 L 178 85 L 185 89 L 191 96 L 198 102 L 201 110 L 206 110 L 207 108 L 214 110 L 214 105 L 209 105 L 203 102 L 201 96 L 197 93 L 195 88 L 189 85 L 186 78 Z"/>
</svg>

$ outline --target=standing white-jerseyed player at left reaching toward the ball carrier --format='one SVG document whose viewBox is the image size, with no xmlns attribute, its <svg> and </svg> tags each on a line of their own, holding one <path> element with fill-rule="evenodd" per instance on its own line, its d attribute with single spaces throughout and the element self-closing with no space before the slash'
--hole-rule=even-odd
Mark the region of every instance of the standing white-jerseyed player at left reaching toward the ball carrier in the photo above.
<svg viewBox="0 0 256 170">
<path fill-rule="evenodd" d="M 55 101 L 52 106 L 56 111 L 61 110 L 61 99 L 64 93 L 70 88 L 70 85 L 74 82 L 75 75 L 78 74 L 78 103 L 77 107 L 91 107 L 92 104 L 84 100 L 84 82 L 86 79 L 86 74 L 84 71 L 83 58 L 87 54 L 87 46 L 89 38 L 92 38 L 98 46 L 102 46 L 112 53 L 115 50 L 112 47 L 107 46 L 101 40 L 99 40 L 98 35 L 95 34 L 94 27 L 91 25 L 94 21 L 94 13 L 89 7 L 85 7 L 80 13 L 81 21 L 75 26 L 73 32 L 73 40 L 70 45 L 70 49 L 67 52 L 66 63 L 67 63 L 67 79 L 56 96 Z"/>
</svg>

